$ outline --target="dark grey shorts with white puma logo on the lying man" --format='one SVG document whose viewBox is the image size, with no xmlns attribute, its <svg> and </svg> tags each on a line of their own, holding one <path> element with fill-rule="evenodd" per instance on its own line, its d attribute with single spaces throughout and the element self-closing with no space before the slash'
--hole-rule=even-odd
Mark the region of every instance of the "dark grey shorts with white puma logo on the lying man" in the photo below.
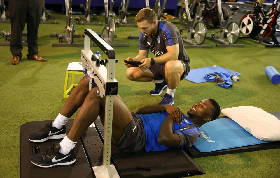
<svg viewBox="0 0 280 178">
<path fill-rule="evenodd" d="M 117 149 L 125 152 L 143 152 L 145 151 L 146 134 L 144 131 L 143 121 L 139 115 L 132 112 L 132 120 L 124 129 L 125 134 L 114 145 Z"/>
</svg>

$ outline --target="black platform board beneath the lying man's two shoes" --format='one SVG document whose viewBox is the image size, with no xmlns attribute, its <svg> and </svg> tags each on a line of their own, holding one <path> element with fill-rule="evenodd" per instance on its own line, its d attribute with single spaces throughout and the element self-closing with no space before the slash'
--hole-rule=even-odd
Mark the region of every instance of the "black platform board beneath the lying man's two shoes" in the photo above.
<svg viewBox="0 0 280 178">
<path fill-rule="evenodd" d="M 91 167 L 86 158 L 82 142 L 78 140 L 75 146 L 76 162 L 71 165 L 54 166 L 51 168 L 41 168 L 30 162 L 30 156 L 36 154 L 33 152 L 43 152 L 45 148 L 60 142 L 62 139 L 50 139 L 43 143 L 34 143 L 29 141 L 28 136 L 47 124 L 48 121 L 26 122 L 20 126 L 20 177 L 40 177 L 40 178 L 62 178 L 62 177 L 93 177 Z M 66 124 L 66 130 L 69 132 L 73 120 Z M 68 133 L 67 132 L 67 133 Z M 35 148 L 39 147 L 40 151 Z"/>
</svg>

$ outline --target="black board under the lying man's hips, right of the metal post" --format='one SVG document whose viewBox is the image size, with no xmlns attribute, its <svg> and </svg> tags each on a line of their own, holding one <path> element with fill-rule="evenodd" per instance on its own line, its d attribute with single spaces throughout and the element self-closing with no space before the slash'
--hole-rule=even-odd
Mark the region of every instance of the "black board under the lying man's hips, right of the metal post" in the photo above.
<svg viewBox="0 0 280 178">
<path fill-rule="evenodd" d="M 95 122 L 103 135 L 101 120 Z M 87 150 L 87 149 L 86 149 Z M 168 149 L 160 152 L 127 153 L 111 147 L 112 159 L 123 178 L 137 177 L 185 177 L 205 174 L 183 149 Z"/>
</svg>

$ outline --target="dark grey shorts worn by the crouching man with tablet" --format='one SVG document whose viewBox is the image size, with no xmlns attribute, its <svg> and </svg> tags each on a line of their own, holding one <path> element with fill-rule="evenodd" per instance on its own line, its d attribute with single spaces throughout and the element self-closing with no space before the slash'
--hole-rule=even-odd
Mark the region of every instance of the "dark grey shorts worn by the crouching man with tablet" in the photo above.
<svg viewBox="0 0 280 178">
<path fill-rule="evenodd" d="M 180 80 L 183 80 L 190 72 L 190 65 L 188 63 L 185 63 L 181 60 L 179 60 L 183 66 L 184 66 L 184 73 L 182 74 Z M 154 64 L 151 65 L 151 67 L 149 68 L 150 71 L 153 73 L 153 75 L 155 76 L 155 80 L 161 80 L 161 79 L 165 79 L 165 75 L 164 75 L 164 64 Z"/>
</svg>

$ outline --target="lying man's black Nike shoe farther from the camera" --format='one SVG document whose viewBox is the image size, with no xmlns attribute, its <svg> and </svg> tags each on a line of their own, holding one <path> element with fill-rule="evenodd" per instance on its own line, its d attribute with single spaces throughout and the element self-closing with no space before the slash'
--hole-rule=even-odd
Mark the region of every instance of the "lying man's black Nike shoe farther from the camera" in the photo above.
<svg viewBox="0 0 280 178">
<path fill-rule="evenodd" d="M 29 135 L 31 142 L 44 142 L 48 139 L 61 139 L 66 136 L 66 127 L 62 126 L 61 129 L 57 129 L 52 126 L 53 122 L 50 121 L 41 130 Z"/>
</svg>

